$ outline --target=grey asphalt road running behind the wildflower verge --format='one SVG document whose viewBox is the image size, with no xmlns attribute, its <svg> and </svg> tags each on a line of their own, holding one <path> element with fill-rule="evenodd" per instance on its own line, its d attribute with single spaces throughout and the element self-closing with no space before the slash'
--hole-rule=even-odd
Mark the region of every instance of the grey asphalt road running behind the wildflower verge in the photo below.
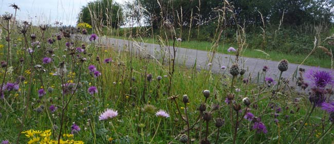
<svg viewBox="0 0 334 144">
<path fill-rule="evenodd" d="M 89 36 L 84 35 L 81 39 L 89 42 Z M 165 51 L 165 47 L 160 47 L 157 44 L 149 44 L 149 43 L 138 43 L 138 42 L 131 42 L 127 40 L 121 39 L 114 39 L 114 38 L 105 38 L 101 37 L 97 41 L 98 44 L 113 47 L 119 50 L 129 50 L 132 46 L 134 52 L 140 52 L 143 55 L 150 56 L 151 58 L 159 59 L 162 51 Z M 173 55 L 173 47 L 170 46 L 171 55 Z M 168 48 L 166 51 L 169 51 Z M 165 56 L 168 57 L 169 53 L 165 52 Z M 179 64 L 185 64 L 188 67 L 193 67 L 196 63 L 197 69 L 206 68 L 209 69 L 208 66 L 208 59 L 212 56 L 211 52 L 203 51 L 203 50 L 196 50 L 196 49 L 188 49 L 188 48 L 180 48 L 177 47 L 176 51 L 176 61 Z M 282 58 L 284 59 L 284 58 Z M 235 61 L 235 56 L 225 55 L 222 53 L 216 53 L 211 64 L 212 72 L 213 73 L 224 73 L 224 70 L 221 70 L 221 66 L 230 67 L 233 62 Z M 330 61 L 328 61 L 330 63 Z M 256 59 L 256 58 L 247 58 L 241 57 L 238 61 L 240 67 L 243 67 L 247 70 L 245 76 L 251 76 L 252 80 L 257 79 L 258 71 L 262 72 L 262 68 L 264 65 L 269 67 L 267 71 L 266 77 L 278 78 L 280 71 L 277 69 L 278 61 L 271 61 L 271 60 L 264 60 L 264 59 Z M 289 68 L 287 71 L 284 71 L 282 77 L 283 78 L 290 78 L 299 64 L 292 64 L 289 63 Z M 305 70 L 312 68 L 312 66 L 301 65 L 301 68 L 305 68 Z M 321 68 L 322 70 L 333 71 L 329 68 Z M 228 69 L 228 68 L 227 68 Z M 333 71 L 334 72 L 334 71 Z M 226 71 L 228 73 L 228 71 Z M 290 79 L 291 80 L 291 79 Z"/>
</svg>

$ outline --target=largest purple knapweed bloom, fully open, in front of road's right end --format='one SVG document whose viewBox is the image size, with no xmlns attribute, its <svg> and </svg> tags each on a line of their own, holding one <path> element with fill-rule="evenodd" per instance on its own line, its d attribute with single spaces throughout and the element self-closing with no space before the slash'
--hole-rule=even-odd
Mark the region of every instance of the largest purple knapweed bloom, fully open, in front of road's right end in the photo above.
<svg viewBox="0 0 334 144">
<path fill-rule="evenodd" d="M 326 87 L 327 84 L 334 84 L 332 73 L 319 68 L 311 68 L 305 73 L 306 80 L 309 80 L 313 86 Z"/>
</svg>

